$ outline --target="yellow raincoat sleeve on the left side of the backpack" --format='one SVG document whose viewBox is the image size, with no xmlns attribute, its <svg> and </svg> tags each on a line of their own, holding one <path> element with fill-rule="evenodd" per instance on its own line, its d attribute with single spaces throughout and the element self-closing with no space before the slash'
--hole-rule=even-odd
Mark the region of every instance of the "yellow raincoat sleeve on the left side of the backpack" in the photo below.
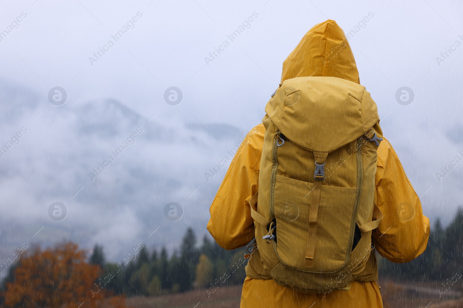
<svg viewBox="0 0 463 308">
<path fill-rule="evenodd" d="M 211 205 L 207 229 L 222 248 L 239 248 L 254 238 L 249 199 L 258 191 L 264 133 L 259 124 L 246 135 Z"/>
</svg>

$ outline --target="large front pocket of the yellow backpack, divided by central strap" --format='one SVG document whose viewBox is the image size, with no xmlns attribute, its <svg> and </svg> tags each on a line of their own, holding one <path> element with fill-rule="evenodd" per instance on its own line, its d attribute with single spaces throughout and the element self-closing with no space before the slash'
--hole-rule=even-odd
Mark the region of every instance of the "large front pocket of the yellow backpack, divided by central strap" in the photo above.
<svg viewBox="0 0 463 308">
<path fill-rule="evenodd" d="M 276 253 L 282 263 L 298 270 L 335 272 L 350 257 L 356 188 L 321 186 L 313 268 L 307 270 L 305 254 L 313 187 L 310 182 L 276 175 Z"/>
</svg>

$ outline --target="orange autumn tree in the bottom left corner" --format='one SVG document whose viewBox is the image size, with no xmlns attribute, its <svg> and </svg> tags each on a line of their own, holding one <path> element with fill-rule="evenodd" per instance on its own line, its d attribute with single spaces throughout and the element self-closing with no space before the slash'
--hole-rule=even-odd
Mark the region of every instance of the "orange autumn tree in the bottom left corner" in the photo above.
<svg viewBox="0 0 463 308">
<path fill-rule="evenodd" d="M 72 242 L 31 250 L 15 266 L 13 281 L 5 285 L 4 306 L 125 308 L 125 298 L 111 297 L 106 289 L 98 288 L 95 282 L 101 274 L 100 266 L 86 259 L 85 252 Z"/>
</svg>

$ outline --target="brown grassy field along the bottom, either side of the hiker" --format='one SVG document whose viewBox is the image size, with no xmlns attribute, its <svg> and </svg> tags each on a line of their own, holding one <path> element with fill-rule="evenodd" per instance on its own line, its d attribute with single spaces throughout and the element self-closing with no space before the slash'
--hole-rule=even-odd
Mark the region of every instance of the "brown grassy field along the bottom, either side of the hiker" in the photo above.
<svg viewBox="0 0 463 308">
<path fill-rule="evenodd" d="M 442 284 L 396 284 L 380 281 L 385 308 L 463 308 L 463 297 L 459 290 L 448 290 L 439 294 Z M 210 297 L 206 290 L 190 291 L 156 297 L 134 296 L 127 305 L 135 308 L 238 308 L 241 285 L 220 287 Z"/>
</svg>

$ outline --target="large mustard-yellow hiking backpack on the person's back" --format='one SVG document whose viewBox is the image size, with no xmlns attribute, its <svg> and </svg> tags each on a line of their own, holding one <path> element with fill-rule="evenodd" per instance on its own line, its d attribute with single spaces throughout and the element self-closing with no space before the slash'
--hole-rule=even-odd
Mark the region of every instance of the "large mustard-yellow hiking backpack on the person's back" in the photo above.
<svg viewBox="0 0 463 308">
<path fill-rule="evenodd" d="M 259 276 L 304 293 L 350 290 L 382 219 L 376 104 L 357 83 L 298 77 L 280 84 L 265 112 L 259 189 L 249 199 Z"/>
</svg>

